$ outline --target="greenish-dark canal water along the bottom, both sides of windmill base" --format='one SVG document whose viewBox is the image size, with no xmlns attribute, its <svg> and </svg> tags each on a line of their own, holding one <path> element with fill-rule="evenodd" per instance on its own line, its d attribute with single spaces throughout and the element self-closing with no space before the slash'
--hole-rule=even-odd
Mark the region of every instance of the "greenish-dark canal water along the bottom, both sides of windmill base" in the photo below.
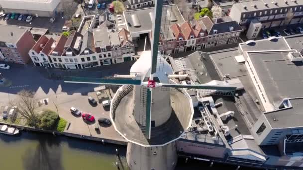
<svg viewBox="0 0 303 170">
<path fill-rule="evenodd" d="M 116 155 L 118 149 L 119 157 Z M 105 144 L 65 136 L 22 132 L 0 134 L 0 170 L 129 170 L 126 146 Z M 176 170 L 235 170 L 236 166 L 178 160 Z M 247 170 L 247 169 L 245 169 Z"/>
</svg>

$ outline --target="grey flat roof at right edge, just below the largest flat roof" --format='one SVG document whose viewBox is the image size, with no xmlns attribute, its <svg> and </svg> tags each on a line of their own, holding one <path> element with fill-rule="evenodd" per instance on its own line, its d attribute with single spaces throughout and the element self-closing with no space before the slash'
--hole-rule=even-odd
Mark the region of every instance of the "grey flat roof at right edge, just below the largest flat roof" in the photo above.
<svg viewBox="0 0 303 170">
<path fill-rule="evenodd" d="M 302 127 L 303 98 L 290 99 L 292 108 L 265 113 L 272 128 Z"/>
</svg>

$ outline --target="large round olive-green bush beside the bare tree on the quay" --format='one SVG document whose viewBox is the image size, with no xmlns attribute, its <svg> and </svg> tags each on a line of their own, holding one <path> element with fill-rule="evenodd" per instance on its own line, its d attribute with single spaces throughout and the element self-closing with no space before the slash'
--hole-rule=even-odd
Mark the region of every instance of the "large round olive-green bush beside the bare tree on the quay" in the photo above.
<svg viewBox="0 0 303 170">
<path fill-rule="evenodd" d="M 59 115 L 51 110 L 44 110 L 40 115 L 40 125 L 41 129 L 52 130 L 54 129 L 56 123 L 59 120 Z"/>
</svg>

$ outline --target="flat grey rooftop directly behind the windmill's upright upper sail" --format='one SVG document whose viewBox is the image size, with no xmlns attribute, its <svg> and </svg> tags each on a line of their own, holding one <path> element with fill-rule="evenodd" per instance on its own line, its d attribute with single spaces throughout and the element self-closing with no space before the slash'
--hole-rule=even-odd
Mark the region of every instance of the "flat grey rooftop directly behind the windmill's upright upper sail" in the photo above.
<svg viewBox="0 0 303 170">
<path fill-rule="evenodd" d="M 171 21 L 169 22 L 169 25 L 172 25 L 174 23 L 179 24 L 179 23 L 185 22 L 177 5 L 163 6 L 163 11 L 166 11 L 166 12 L 162 12 L 162 20 L 165 17 L 166 18 L 170 17 Z M 168 11 L 171 11 L 171 14 Z M 154 22 L 154 7 L 129 10 L 129 11 L 124 11 L 123 13 L 125 16 L 127 29 L 131 33 L 132 32 L 142 32 L 142 31 L 144 33 L 148 33 L 148 32 L 152 31 L 152 23 Z M 164 21 L 162 21 L 162 22 L 164 23 Z M 167 26 L 167 27 L 169 28 L 170 26 Z"/>
</svg>

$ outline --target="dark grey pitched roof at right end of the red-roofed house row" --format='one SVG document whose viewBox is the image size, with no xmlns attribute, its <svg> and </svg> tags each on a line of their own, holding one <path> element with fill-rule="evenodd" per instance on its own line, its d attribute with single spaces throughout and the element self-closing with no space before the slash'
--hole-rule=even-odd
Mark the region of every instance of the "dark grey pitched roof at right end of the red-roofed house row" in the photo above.
<svg viewBox="0 0 303 170">
<path fill-rule="evenodd" d="M 211 29 L 208 32 L 208 35 L 214 35 L 214 30 L 217 30 L 217 34 L 228 33 L 230 31 L 230 27 L 233 27 L 233 31 L 241 31 L 242 28 L 236 21 L 231 22 L 221 22 L 221 23 L 214 23 Z"/>
</svg>

